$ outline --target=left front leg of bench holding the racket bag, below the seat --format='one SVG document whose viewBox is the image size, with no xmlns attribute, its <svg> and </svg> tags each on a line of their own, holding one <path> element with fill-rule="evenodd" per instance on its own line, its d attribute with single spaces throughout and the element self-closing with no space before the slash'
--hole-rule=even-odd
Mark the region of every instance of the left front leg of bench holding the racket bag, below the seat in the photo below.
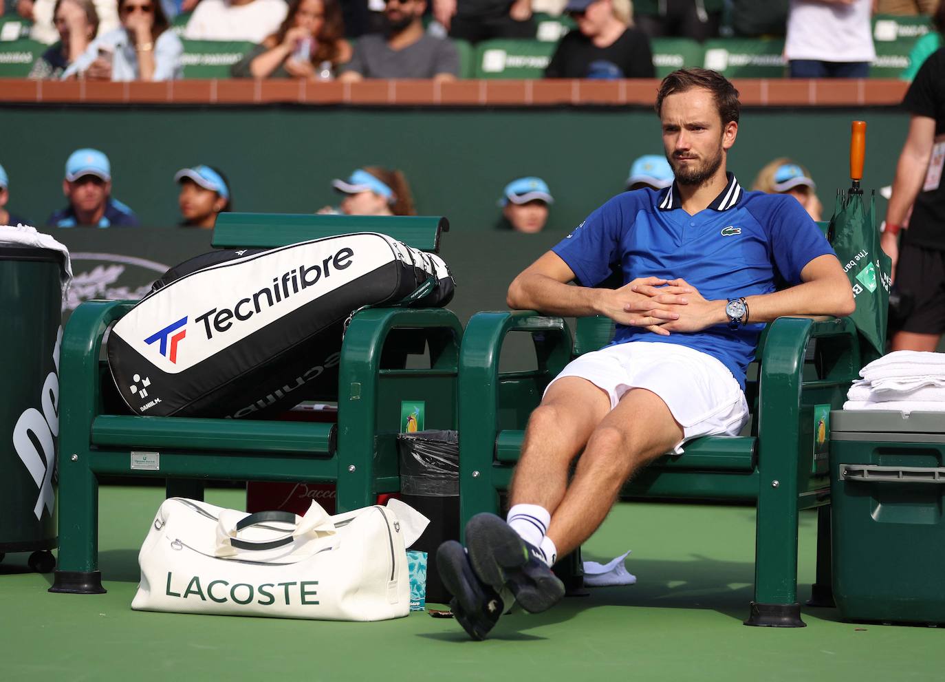
<svg viewBox="0 0 945 682">
<path fill-rule="evenodd" d="M 106 591 L 98 570 L 98 480 L 88 460 L 85 453 L 60 457 L 60 548 L 50 592 Z"/>
</svg>

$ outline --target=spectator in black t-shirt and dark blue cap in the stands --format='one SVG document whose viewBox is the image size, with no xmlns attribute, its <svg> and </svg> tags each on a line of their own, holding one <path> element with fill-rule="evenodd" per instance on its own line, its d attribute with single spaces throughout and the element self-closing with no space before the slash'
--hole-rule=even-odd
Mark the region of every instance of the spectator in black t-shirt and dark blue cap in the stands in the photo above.
<svg viewBox="0 0 945 682">
<path fill-rule="evenodd" d="M 653 54 L 646 34 L 629 26 L 627 0 L 569 0 L 570 31 L 544 70 L 546 79 L 652 79 Z"/>
</svg>

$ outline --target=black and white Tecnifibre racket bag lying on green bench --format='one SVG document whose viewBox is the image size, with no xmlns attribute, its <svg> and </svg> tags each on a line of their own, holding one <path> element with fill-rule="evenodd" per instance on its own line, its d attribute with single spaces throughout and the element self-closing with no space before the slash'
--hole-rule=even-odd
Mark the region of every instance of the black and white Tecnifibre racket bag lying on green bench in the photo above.
<svg viewBox="0 0 945 682">
<path fill-rule="evenodd" d="M 203 254 L 112 327 L 109 367 L 138 414 L 271 416 L 337 393 L 353 312 L 445 306 L 453 291 L 438 256 L 374 233 Z"/>
</svg>

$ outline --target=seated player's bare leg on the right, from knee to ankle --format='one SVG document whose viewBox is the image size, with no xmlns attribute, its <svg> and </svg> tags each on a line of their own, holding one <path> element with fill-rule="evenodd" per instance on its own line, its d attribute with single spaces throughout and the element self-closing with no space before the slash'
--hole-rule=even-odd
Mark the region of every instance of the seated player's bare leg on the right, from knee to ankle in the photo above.
<svg viewBox="0 0 945 682">
<path fill-rule="evenodd" d="M 659 395 L 644 389 L 625 393 L 593 430 L 574 480 L 551 516 L 548 537 L 558 556 L 597 530 L 634 471 L 681 440 L 682 427 Z"/>
</svg>

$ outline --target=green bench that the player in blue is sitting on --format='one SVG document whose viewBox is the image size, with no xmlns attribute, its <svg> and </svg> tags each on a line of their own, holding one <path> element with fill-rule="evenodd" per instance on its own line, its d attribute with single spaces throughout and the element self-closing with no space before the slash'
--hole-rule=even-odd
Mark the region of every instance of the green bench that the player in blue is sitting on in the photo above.
<svg viewBox="0 0 945 682">
<path fill-rule="evenodd" d="M 820 224 L 826 230 L 826 223 Z M 500 511 L 518 462 L 528 414 L 571 359 L 610 341 L 608 318 L 566 322 L 534 311 L 481 312 L 466 326 L 459 360 L 461 528 L 473 515 Z M 537 368 L 500 372 L 510 334 L 528 335 Z M 871 356 L 849 319 L 780 318 L 768 324 L 748 369 L 751 420 L 739 436 L 690 441 L 627 482 L 628 498 L 734 500 L 758 507 L 755 598 L 747 624 L 803 625 L 797 594 L 798 515 L 818 508 L 815 599 L 830 601 L 830 481 L 816 417 L 842 407 L 851 381 Z M 580 552 L 559 563 L 580 586 Z M 556 568 L 557 570 L 557 568 Z"/>
</svg>

